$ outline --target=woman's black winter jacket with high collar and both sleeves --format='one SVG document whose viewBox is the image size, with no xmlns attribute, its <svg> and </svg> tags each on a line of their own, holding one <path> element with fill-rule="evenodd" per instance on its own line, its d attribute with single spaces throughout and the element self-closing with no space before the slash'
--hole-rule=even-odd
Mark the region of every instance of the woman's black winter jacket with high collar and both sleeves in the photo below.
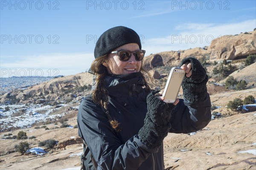
<svg viewBox="0 0 256 170">
<path fill-rule="evenodd" d="M 122 130 L 111 128 L 105 110 L 96 105 L 92 96 L 82 100 L 77 117 L 79 136 L 87 143 L 98 170 L 163 170 L 163 144 L 149 149 L 138 132 L 147 113 L 144 81 L 140 74 L 108 76 L 109 112 L 120 122 Z M 172 111 L 170 133 L 190 133 L 204 128 L 211 119 L 209 94 L 203 102 L 180 99 Z M 89 152 L 89 154 L 90 154 Z M 90 161 L 87 169 L 93 169 Z"/>
</svg>

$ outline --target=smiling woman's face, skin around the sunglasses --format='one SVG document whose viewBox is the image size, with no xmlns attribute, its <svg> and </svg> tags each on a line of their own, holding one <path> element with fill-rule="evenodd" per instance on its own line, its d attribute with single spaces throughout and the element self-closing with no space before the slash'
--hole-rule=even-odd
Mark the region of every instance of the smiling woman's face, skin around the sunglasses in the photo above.
<svg viewBox="0 0 256 170">
<path fill-rule="evenodd" d="M 139 45 L 136 43 L 130 43 L 120 46 L 113 51 L 118 50 L 129 50 L 136 51 L 140 50 Z M 131 58 L 128 61 L 121 61 L 118 54 L 108 54 L 108 58 L 103 63 L 108 69 L 109 74 L 130 74 L 140 71 L 141 61 L 136 61 L 134 54 L 131 54 Z"/>
</svg>

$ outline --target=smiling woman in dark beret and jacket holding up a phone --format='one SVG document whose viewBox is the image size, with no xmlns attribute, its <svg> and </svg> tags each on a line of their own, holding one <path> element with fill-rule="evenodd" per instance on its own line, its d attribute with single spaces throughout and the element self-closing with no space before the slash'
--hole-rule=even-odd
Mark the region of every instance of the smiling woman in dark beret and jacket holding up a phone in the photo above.
<svg viewBox="0 0 256 170">
<path fill-rule="evenodd" d="M 96 85 L 77 117 L 87 145 L 86 170 L 163 170 L 167 134 L 195 132 L 210 121 L 208 77 L 200 62 L 182 61 L 184 100 L 167 104 L 142 74 L 141 49 L 138 34 L 123 26 L 105 31 L 96 43 L 91 65 Z"/>
</svg>

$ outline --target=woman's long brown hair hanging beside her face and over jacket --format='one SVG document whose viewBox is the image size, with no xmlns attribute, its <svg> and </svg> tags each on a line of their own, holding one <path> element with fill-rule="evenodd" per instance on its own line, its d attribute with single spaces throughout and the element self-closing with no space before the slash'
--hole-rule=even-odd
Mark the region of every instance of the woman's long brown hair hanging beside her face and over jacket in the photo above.
<svg viewBox="0 0 256 170">
<path fill-rule="evenodd" d="M 92 95 L 93 95 L 93 101 L 98 104 L 101 105 L 103 108 L 105 108 L 106 110 L 106 115 L 108 117 L 108 120 L 111 124 L 111 127 L 116 130 L 117 132 L 121 131 L 120 128 L 120 123 L 113 119 L 111 114 L 108 111 L 108 91 L 105 88 L 105 77 L 107 76 L 108 70 L 107 68 L 102 64 L 103 62 L 106 62 L 106 60 L 108 59 L 108 54 L 101 56 L 101 57 L 97 57 L 90 69 L 91 71 L 94 73 L 94 75 L 96 76 L 96 88 L 95 90 L 93 90 Z M 145 69 L 143 69 L 143 61 L 141 62 L 141 68 L 140 68 L 140 72 L 143 71 L 146 74 L 148 74 L 149 78 L 151 79 L 150 74 L 148 73 L 148 71 L 145 71 Z M 150 91 L 150 87 L 148 85 L 147 80 L 145 79 L 144 75 L 142 74 L 142 78 L 145 82 L 145 88 L 146 91 Z M 152 82 L 152 79 L 151 79 Z"/>
</svg>

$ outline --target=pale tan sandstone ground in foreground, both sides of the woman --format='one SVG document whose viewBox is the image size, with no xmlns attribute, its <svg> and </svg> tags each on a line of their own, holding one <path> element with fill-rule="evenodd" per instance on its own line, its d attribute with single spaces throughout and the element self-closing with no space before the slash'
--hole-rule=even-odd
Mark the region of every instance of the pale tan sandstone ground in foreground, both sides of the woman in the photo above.
<svg viewBox="0 0 256 170">
<path fill-rule="evenodd" d="M 256 169 L 256 112 L 237 113 L 225 108 L 228 101 L 235 97 L 256 96 L 256 89 L 223 92 L 211 95 L 214 105 L 222 106 L 216 111 L 224 117 L 212 120 L 207 127 L 195 134 L 169 133 L 164 139 L 164 160 L 168 170 L 255 170 Z M 231 113 L 230 113 L 231 112 Z M 228 114 L 230 113 L 230 114 Z M 68 123 L 76 125 L 76 112 L 71 112 Z M 79 154 L 82 152 L 77 128 L 51 129 L 34 127 L 22 129 L 27 136 L 36 136 L 37 140 L 26 139 L 30 147 L 38 147 L 38 142 L 57 139 L 59 145 L 44 156 L 23 155 L 13 152 L 15 139 L 0 139 L 0 170 L 61 170 L 79 169 Z M 60 124 L 58 124 L 60 126 Z M 1 133 L 17 135 L 20 130 Z M 24 141 L 24 140 L 23 140 Z M 71 141 L 71 142 L 70 142 Z M 73 141 L 73 142 L 72 142 Z M 239 153 L 250 150 L 249 153 Z M 73 155 L 72 155 L 73 154 Z"/>
</svg>

